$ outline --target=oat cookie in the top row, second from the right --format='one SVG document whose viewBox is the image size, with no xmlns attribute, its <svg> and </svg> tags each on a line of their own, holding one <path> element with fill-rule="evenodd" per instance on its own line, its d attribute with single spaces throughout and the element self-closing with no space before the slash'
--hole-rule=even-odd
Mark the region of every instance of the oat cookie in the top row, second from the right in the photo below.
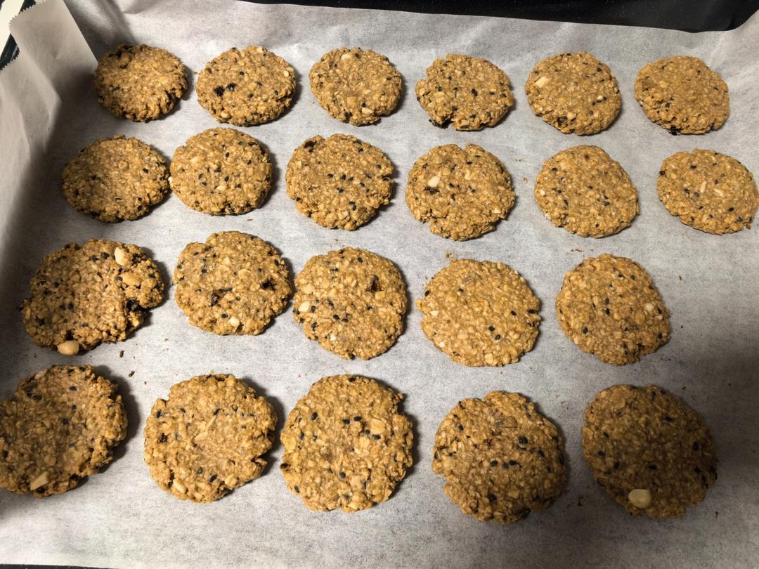
<svg viewBox="0 0 759 569">
<path fill-rule="evenodd" d="M 586 52 L 540 61 L 524 91 L 535 115 L 564 134 L 596 134 L 619 115 L 622 96 L 609 66 Z"/>
</svg>

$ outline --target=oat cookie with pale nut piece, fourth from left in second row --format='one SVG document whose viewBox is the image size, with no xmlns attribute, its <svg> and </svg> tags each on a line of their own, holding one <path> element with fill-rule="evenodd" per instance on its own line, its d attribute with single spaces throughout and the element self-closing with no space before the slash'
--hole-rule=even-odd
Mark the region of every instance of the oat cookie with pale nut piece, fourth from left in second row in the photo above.
<svg viewBox="0 0 759 569">
<path fill-rule="evenodd" d="M 515 202 L 499 159 L 474 144 L 436 146 L 408 173 L 406 203 L 441 237 L 467 240 L 493 231 Z"/>
</svg>

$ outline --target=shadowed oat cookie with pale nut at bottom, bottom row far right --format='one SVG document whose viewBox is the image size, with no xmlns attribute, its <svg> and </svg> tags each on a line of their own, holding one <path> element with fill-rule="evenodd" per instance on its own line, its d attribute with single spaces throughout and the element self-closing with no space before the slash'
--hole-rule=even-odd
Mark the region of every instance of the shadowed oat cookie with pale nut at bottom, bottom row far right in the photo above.
<svg viewBox="0 0 759 569">
<path fill-rule="evenodd" d="M 655 385 L 599 391 L 585 412 L 582 449 L 601 488 L 636 516 L 685 515 L 716 481 L 701 418 Z"/>
</svg>

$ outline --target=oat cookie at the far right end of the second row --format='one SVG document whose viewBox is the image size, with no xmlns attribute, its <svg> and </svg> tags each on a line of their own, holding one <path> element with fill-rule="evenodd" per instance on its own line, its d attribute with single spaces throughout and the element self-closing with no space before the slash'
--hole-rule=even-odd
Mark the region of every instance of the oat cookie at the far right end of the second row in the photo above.
<svg viewBox="0 0 759 569">
<path fill-rule="evenodd" d="M 677 152 L 662 163 L 659 199 L 672 215 L 717 235 L 751 228 L 759 206 L 754 174 L 738 160 L 714 152 Z"/>
</svg>

